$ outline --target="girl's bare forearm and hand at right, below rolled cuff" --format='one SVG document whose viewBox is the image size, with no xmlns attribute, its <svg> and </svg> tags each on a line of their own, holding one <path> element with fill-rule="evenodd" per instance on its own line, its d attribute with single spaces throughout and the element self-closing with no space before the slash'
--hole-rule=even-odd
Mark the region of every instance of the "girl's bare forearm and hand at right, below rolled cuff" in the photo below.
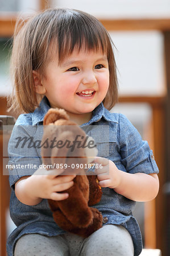
<svg viewBox="0 0 170 256">
<path fill-rule="evenodd" d="M 106 158 L 96 158 L 95 162 L 103 166 L 96 169 L 101 187 L 113 188 L 115 192 L 133 201 L 150 201 L 157 196 L 159 191 L 157 174 L 123 172 Z"/>
</svg>

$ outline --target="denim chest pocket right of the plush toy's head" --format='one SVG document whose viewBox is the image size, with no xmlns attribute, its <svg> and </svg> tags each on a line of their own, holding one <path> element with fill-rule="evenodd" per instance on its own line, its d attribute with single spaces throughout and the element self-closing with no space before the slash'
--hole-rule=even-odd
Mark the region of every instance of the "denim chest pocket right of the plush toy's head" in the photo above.
<svg viewBox="0 0 170 256">
<path fill-rule="evenodd" d="M 92 136 L 96 143 L 98 156 L 107 158 L 113 154 L 117 142 L 116 131 L 101 130 L 96 132 L 92 130 L 89 135 Z"/>
</svg>

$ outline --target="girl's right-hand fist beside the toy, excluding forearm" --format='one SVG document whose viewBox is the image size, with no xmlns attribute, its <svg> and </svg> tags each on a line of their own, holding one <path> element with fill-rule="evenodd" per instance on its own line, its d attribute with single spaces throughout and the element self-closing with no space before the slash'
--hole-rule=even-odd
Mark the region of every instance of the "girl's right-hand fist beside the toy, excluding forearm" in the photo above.
<svg viewBox="0 0 170 256">
<path fill-rule="evenodd" d="M 116 188 L 121 182 L 121 176 L 119 175 L 119 170 L 115 164 L 106 158 L 96 158 L 95 163 L 101 164 L 102 168 L 96 168 L 97 178 L 99 180 L 99 185 L 103 188 Z"/>
</svg>

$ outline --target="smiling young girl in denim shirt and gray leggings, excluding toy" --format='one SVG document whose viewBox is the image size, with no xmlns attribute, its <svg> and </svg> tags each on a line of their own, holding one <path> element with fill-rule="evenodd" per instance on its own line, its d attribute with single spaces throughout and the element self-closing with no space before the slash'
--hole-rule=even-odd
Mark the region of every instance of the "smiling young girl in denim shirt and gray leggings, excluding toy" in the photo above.
<svg viewBox="0 0 170 256">
<path fill-rule="evenodd" d="M 8 255 L 139 255 L 142 239 L 132 209 L 135 201 L 156 197 L 158 169 L 135 127 L 124 115 L 109 112 L 117 102 L 118 84 L 105 28 L 82 11 L 46 10 L 15 33 L 12 69 L 13 106 L 24 114 L 9 142 L 9 164 L 15 166 L 9 170 L 10 213 L 17 228 L 7 241 Z M 61 230 L 48 206 L 47 199 L 67 199 L 62 191 L 75 176 L 40 168 L 40 148 L 16 147 L 18 136 L 35 141 L 42 136 L 39 127 L 49 108 L 65 109 L 81 127 L 99 127 L 93 137 L 101 156 L 96 162 L 103 165 L 96 169 L 103 195 L 95 207 L 103 227 L 88 238 Z"/>
</svg>

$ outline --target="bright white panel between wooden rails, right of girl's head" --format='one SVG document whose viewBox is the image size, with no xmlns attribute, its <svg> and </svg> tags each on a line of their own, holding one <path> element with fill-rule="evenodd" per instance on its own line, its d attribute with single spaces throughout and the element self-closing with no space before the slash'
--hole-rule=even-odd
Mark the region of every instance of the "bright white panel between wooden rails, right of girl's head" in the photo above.
<svg viewBox="0 0 170 256">
<path fill-rule="evenodd" d="M 111 32 L 120 94 L 158 95 L 165 90 L 163 36 L 156 31 Z"/>
</svg>

